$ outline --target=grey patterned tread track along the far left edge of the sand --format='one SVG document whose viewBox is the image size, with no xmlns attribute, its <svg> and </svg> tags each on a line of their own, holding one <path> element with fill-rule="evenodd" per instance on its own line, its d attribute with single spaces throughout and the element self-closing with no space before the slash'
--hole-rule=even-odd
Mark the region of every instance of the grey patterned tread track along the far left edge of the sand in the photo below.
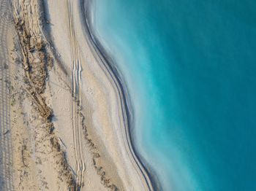
<svg viewBox="0 0 256 191">
<path fill-rule="evenodd" d="M 10 1 L 0 0 L 0 190 L 14 190 L 10 128 L 10 74 L 7 33 L 12 22 Z"/>
</svg>

